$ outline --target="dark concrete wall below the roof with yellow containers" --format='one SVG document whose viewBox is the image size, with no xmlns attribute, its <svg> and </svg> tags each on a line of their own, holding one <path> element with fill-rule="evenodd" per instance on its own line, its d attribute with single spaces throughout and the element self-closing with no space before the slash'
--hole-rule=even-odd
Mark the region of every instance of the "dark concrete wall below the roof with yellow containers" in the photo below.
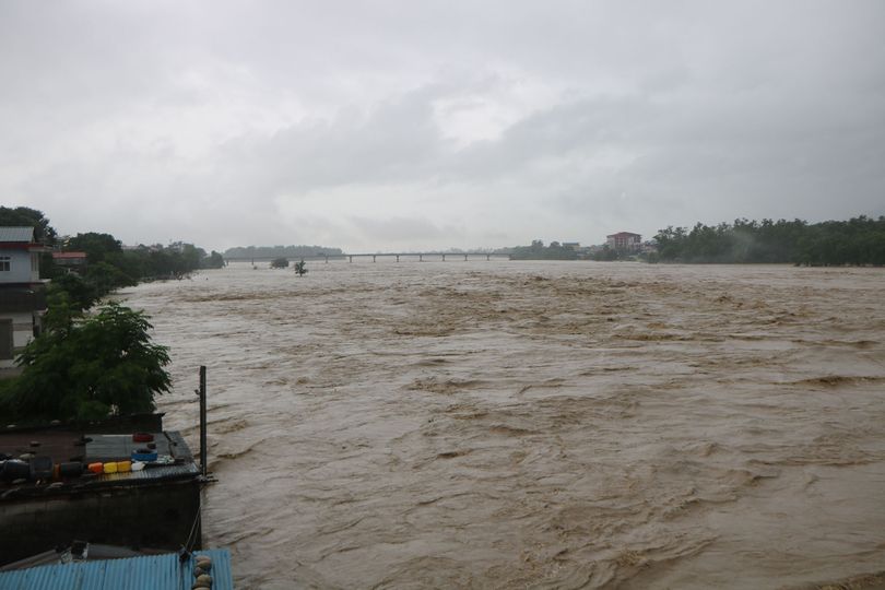
<svg viewBox="0 0 885 590">
<path fill-rule="evenodd" d="M 0 502 L 0 565 L 73 540 L 176 551 L 200 510 L 197 481 Z M 201 529 L 196 529 L 200 547 Z"/>
</svg>

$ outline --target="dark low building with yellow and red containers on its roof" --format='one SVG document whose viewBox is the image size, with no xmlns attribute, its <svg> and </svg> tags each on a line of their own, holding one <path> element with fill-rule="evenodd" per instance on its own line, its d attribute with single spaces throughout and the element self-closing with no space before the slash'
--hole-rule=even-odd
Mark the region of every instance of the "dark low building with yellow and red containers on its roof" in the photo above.
<svg viewBox="0 0 885 590">
<path fill-rule="evenodd" d="M 200 547 L 206 479 L 157 414 L 0 430 L 0 565 L 75 541 Z"/>
</svg>

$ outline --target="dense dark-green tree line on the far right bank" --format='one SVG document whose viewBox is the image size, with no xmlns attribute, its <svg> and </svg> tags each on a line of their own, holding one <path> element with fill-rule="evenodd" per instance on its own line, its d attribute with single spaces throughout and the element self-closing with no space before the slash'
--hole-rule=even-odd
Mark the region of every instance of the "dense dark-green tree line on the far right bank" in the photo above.
<svg viewBox="0 0 885 590">
<path fill-rule="evenodd" d="M 661 229 L 654 241 L 658 252 L 649 261 L 883 266 L 885 216 L 861 215 L 815 224 L 802 220 L 736 220 L 717 226 L 698 223 L 691 231 Z"/>
</svg>

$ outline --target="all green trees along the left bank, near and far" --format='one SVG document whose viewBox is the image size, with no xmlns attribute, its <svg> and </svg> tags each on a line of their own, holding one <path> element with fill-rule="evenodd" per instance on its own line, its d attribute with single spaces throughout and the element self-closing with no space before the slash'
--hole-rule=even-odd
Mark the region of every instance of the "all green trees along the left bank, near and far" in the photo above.
<svg viewBox="0 0 885 590">
<path fill-rule="evenodd" d="M 140 311 L 109 304 L 90 309 L 113 291 L 157 278 L 181 278 L 224 266 L 192 244 L 125 249 L 110 234 L 87 232 L 59 238 L 43 212 L 0 206 L 0 226 L 34 226 L 35 239 L 62 251 L 86 253 L 79 273 L 43 256 L 40 275 L 48 310 L 43 329 L 16 358 L 22 373 L 0 380 L 0 415 L 19 423 L 90 421 L 149 412 L 154 396 L 168 391 L 166 347 L 151 341 Z"/>
</svg>

